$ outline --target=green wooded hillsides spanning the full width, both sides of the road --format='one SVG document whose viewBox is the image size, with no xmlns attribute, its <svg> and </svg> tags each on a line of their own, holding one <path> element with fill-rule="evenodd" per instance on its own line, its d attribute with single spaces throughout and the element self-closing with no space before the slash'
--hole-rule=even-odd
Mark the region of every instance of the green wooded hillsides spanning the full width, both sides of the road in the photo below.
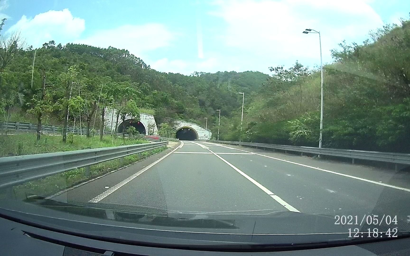
<svg viewBox="0 0 410 256">
<path fill-rule="evenodd" d="M 194 72 L 187 76 L 157 72 L 148 63 L 116 48 L 45 43 L 22 49 L 20 40 L 2 38 L 0 109 L 63 120 L 64 108 L 100 106 L 130 108 L 164 118 L 205 125 L 216 134 L 221 109 L 221 140 L 317 146 L 320 117 L 320 72 L 296 62 L 291 68 L 261 72 Z M 323 147 L 409 152 L 410 25 L 387 25 L 361 44 L 342 42 L 324 67 Z M 46 85 L 45 95 L 39 93 Z M 74 99 L 68 101 L 70 87 Z M 242 97 L 245 93 L 241 129 Z M 110 98 L 111 97 L 111 98 Z M 113 103 L 114 102 L 114 103 Z M 99 108 L 98 111 L 100 111 Z M 87 112 L 88 111 L 88 112 Z M 85 112 L 85 114 L 84 114 Z M 7 116 L 7 115 L 6 115 Z M 84 118 L 84 117 L 82 117 Z M 98 122 L 98 119 L 97 119 Z"/>
</svg>

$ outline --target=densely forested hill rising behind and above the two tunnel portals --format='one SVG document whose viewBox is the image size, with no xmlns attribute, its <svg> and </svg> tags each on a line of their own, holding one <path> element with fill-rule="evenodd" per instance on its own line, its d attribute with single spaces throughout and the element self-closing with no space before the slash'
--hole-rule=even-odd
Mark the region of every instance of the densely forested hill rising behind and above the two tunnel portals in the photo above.
<svg viewBox="0 0 410 256">
<path fill-rule="evenodd" d="M 176 118 L 205 125 L 204 118 L 209 117 L 211 121 L 215 109 L 223 109 L 222 115 L 231 116 L 232 111 L 241 106 L 237 92 L 249 92 L 261 86 L 269 77 L 260 72 L 194 73 L 191 76 L 167 74 L 153 70 L 128 50 L 71 43 L 62 46 L 50 41 L 36 51 L 31 87 L 34 52 L 32 47 L 17 49 L 13 59 L 2 71 L 2 82 L 9 85 L 7 88 L 2 86 L 2 95 L 9 95 L 14 108 L 21 107 L 23 111 L 30 109 L 27 103 L 41 88 L 43 75 L 46 74 L 46 83 L 58 87 L 61 74 L 76 66 L 83 84 L 94 85 L 94 97 L 99 92 L 99 85 L 105 82 L 108 85 L 116 83 L 123 87 L 130 86 L 137 91 L 137 97 L 133 100 L 140 110 L 155 113 L 158 123 L 164 118 Z M 49 93 L 59 91 L 55 89 Z M 80 88 L 80 93 L 83 89 Z M 54 94 L 51 97 L 58 100 L 61 95 Z M 59 110 L 54 109 L 50 115 L 61 119 Z M 72 118 L 74 116 L 70 116 Z"/>
</svg>

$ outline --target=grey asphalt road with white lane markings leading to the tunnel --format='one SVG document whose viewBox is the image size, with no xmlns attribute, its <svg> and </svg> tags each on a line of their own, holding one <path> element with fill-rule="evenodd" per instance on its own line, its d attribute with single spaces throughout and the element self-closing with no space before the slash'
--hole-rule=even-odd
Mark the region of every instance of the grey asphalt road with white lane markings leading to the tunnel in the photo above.
<svg viewBox="0 0 410 256">
<path fill-rule="evenodd" d="M 214 143 L 180 145 L 54 197 L 145 211 L 399 215 L 410 211 L 410 175 Z"/>
</svg>

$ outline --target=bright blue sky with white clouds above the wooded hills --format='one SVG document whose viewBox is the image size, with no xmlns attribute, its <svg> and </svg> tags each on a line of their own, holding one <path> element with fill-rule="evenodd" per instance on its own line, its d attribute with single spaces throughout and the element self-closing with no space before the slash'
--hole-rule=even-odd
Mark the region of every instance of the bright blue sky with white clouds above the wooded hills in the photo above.
<svg viewBox="0 0 410 256">
<path fill-rule="evenodd" d="M 82 43 L 129 50 L 151 68 L 260 71 L 320 65 L 343 40 L 409 18 L 408 0 L 0 0 L 2 34 L 19 32 L 34 48 Z"/>
</svg>

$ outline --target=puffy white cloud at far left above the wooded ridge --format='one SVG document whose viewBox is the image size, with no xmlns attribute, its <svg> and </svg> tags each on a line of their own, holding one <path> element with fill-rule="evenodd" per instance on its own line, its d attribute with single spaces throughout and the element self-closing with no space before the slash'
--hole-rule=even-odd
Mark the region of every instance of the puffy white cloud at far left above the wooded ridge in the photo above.
<svg viewBox="0 0 410 256">
<path fill-rule="evenodd" d="M 68 9 L 64 9 L 50 10 L 37 14 L 34 18 L 23 15 L 7 32 L 18 31 L 25 38 L 27 45 L 39 47 L 50 40 L 68 43 L 78 38 L 84 29 L 84 19 L 73 17 Z"/>
</svg>

